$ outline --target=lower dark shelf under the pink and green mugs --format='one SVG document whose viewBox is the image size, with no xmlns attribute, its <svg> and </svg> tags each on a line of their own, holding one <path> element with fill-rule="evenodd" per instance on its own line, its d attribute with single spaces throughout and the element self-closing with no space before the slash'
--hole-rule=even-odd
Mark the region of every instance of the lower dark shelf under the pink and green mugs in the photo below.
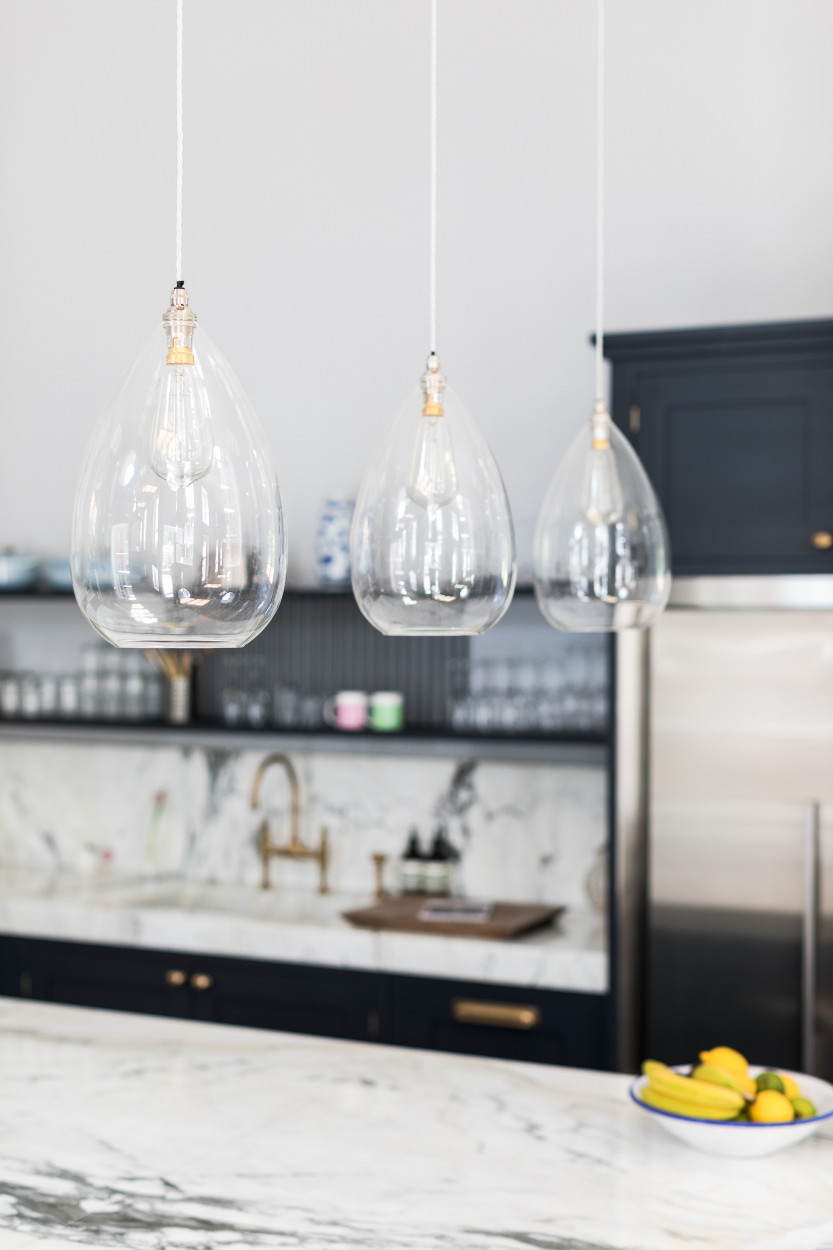
<svg viewBox="0 0 833 1250">
<path fill-rule="evenodd" d="M 561 764 L 603 768 L 604 739 L 463 738 L 410 730 L 403 734 L 281 734 L 276 730 L 225 729 L 211 725 L 124 725 L 114 722 L 0 721 L 0 740 L 20 742 L 97 744 L 105 746 L 196 746 L 217 751 L 312 751 L 318 755 L 478 759 L 507 764 Z"/>
</svg>

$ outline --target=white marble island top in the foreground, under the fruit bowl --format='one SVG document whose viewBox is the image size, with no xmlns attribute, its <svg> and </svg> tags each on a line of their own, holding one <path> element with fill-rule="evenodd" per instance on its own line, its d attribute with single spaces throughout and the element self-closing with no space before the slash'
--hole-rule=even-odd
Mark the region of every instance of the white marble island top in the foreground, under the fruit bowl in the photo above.
<svg viewBox="0 0 833 1250">
<path fill-rule="evenodd" d="M 833 1136 L 713 1159 L 628 1078 L 0 999 L 0 1250 L 822 1250 Z"/>
</svg>

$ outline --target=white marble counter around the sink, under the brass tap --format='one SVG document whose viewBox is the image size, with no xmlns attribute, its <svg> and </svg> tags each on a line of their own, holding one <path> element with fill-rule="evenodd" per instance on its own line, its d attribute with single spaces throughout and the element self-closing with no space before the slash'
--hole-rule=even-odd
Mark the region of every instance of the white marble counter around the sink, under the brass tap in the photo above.
<svg viewBox="0 0 833 1250">
<path fill-rule="evenodd" d="M 370 900 L 0 868 L 0 932 L 604 994 L 604 925 L 568 910 L 511 941 L 353 929 Z"/>
</svg>

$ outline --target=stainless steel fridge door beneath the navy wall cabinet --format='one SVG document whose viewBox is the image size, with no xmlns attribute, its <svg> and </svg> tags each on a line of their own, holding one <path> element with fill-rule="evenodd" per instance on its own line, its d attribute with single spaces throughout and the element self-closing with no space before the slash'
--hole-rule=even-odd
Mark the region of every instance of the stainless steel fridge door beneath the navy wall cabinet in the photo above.
<svg viewBox="0 0 833 1250">
<path fill-rule="evenodd" d="M 833 612 L 667 611 L 649 726 L 648 1049 L 831 1072 Z"/>
</svg>

